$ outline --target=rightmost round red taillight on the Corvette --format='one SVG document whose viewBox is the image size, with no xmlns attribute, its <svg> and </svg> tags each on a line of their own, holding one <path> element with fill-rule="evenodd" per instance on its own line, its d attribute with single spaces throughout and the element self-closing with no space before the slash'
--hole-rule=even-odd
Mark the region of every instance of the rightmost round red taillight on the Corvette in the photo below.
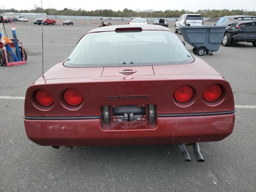
<svg viewBox="0 0 256 192">
<path fill-rule="evenodd" d="M 222 95 L 222 88 L 217 85 L 213 84 L 208 86 L 206 90 L 204 91 L 204 100 L 208 102 L 214 102 L 218 100 Z"/>
</svg>

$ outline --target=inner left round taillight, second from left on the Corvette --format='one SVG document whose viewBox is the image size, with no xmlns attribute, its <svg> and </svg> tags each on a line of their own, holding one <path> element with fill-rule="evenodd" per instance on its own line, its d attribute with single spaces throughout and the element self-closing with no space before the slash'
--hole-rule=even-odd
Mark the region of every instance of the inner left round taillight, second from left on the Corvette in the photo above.
<svg viewBox="0 0 256 192">
<path fill-rule="evenodd" d="M 64 100 L 71 106 L 78 106 L 82 103 L 83 96 L 77 90 L 67 89 L 64 92 Z"/>
</svg>

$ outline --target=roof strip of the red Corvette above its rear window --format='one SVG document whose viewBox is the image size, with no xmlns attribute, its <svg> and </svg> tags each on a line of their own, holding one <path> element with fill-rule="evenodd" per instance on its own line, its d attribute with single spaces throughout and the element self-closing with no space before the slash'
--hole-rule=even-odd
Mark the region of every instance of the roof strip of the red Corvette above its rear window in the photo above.
<svg viewBox="0 0 256 192">
<path fill-rule="evenodd" d="M 152 24 L 137 24 L 136 27 L 141 27 L 142 30 L 166 30 L 166 31 L 172 31 L 166 27 L 160 26 L 160 25 L 152 25 Z M 134 25 L 112 25 L 112 26 L 105 26 L 105 27 L 99 27 L 96 29 L 92 29 L 87 33 L 93 33 L 93 32 L 104 32 L 104 31 L 115 31 L 116 28 L 134 28 Z"/>
</svg>

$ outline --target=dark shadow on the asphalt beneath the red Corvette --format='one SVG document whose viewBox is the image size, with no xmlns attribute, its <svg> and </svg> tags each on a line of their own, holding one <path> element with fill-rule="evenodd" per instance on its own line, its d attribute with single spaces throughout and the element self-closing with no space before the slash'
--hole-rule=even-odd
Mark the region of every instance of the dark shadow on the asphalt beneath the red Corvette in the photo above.
<svg viewBox="0 0 256 192">
<path fill-rule="evenodd" d="M 197 163 L 194 157 L 192 146 L 186 147 L 192 162 Z M 200 149 L 202 155 L 210 156 L 214 152 L 209 152 L 211 148 L 209 143 L 201 143 Z M 212 150 L 212 149 L 211 149 Z M 66 161 L 67 156 L 74 158 L 78 164 L 85 164 L 88 162 L 94 163 L 113 163 L 121 166 L 122 164 L 148 164 L 163 162 L 164 164 L 186 164 L 182 154 L 176 145 L 149 145 L 149 146 L 104 146 L 104 147 L 74 147 L 72 149 L 61 147 L 56 150 L 52 148 L 53 152 L 58 153 L 61 158 L 60 161 Z M 70 160 L 70 158 L 68 158 Z M 209 158 L 209 157 L 208 157 Z M 63 162 L 63 163 L 64 163 Z"/>
</svg>

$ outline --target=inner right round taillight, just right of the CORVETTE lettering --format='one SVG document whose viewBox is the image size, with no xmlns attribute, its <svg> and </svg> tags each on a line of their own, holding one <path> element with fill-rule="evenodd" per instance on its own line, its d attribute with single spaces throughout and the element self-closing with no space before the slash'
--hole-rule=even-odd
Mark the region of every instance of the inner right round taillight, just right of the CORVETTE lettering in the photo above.
<svg viewBox="0 0 256 192">
<path fill-rule="evenodd" d="M 174 98 L 180 103 L 189 102 L 194 95 L 193 89 L 188 85 L 178 87 L 174 92 Z"/>
</svg>

